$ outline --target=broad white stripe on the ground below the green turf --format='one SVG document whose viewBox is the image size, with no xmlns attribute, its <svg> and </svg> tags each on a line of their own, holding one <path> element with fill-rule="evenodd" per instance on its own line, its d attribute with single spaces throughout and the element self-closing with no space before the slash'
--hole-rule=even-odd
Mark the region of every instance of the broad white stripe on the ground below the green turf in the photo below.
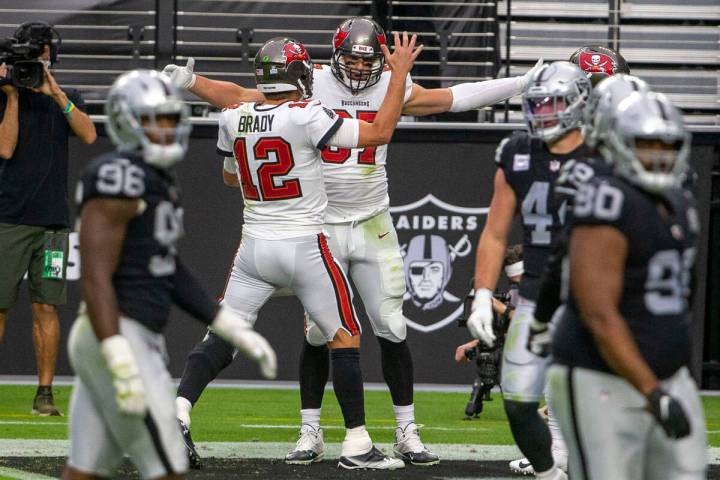
<svg viewBox="0 0 720 480">
<path fill-rule="evenodd" d="M 325 444 L 328 456 L 340 456 L 339 443 Z M 392 444 L 376 444 L 385 453 L 392 452 Z M 198 442 L 198 453 L 217 458 L 280 459 L 295 447 L 293 442 Z M 514 460 L 521 455 L 514 445 L 467 445 L 434 443 L 431 450 L 445 460 Z M 70 450 L 69 440 L 0 439 L 2 457 L 64 457 Z M 720 463 L 720 448 L 708 449 L 708 461 Z"/>
</svg>

